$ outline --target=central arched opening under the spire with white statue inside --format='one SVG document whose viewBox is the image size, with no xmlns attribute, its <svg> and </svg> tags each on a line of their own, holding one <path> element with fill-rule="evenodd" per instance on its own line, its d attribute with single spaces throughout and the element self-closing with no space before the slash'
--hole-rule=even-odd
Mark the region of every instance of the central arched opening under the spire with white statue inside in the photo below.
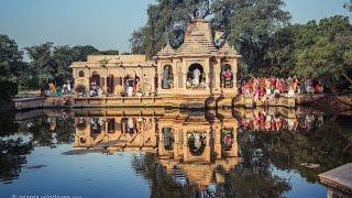
<svg viewBox="0 0 352 198">
<path fill-rule="evenodd" d="M 187 72 L 187 89 L 205 89 L 206 74 L 200 64 L 191 64 Z"/>
</svg>

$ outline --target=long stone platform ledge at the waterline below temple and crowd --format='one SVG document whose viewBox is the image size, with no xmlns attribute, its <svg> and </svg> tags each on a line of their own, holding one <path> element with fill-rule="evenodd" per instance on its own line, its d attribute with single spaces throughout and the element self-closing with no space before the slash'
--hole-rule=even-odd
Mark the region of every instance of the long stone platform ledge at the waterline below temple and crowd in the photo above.
<svg viewBox="0 0 352 198">
<path fill-rule="evenodd" d="M 63 101 L 66 103 L 63 103 Z M 65 108 L 180 108 L 180 109 L 216 109 L 232 107 L 262 107 L 263 103 L 254 102 L 245 96 L 155 96 L 155 97 L 74 97 L 65 98 L 25 98 L 14 99 L 16 110 L 30 109 L 65 109 Z M 265 106 L 295 108 L 296 98 L 280 97 L 268 100 Z"/>
</svg>

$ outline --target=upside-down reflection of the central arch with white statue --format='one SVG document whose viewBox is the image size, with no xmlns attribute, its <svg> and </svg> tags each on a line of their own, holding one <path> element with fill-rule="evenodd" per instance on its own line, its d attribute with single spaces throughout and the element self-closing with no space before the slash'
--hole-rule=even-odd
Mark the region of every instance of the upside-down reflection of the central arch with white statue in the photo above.
<svg viewBox="0 0 352 198">
<path fill-rule="evenodd" d="M 188 147 L 190 154 L 200 156 L 206 148 L 206 133 L 190 132 L 187 134 Z"/>
</svg>

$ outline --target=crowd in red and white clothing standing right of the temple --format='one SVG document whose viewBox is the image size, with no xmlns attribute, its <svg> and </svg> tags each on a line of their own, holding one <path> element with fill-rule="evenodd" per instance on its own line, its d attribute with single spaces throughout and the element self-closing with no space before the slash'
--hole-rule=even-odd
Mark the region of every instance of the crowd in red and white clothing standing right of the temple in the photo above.
<svg viewBox="0 0 352 198">
<path fill-rule="evenodd" d="M 241 82 L 242 95 L 252 96 L 254 100 L 265 97 L 294 97 L 297 94 L 322 94 L 322 85 L 318 80 L 299 80 L 296 77 L 253 77 Z"/>
</svg>

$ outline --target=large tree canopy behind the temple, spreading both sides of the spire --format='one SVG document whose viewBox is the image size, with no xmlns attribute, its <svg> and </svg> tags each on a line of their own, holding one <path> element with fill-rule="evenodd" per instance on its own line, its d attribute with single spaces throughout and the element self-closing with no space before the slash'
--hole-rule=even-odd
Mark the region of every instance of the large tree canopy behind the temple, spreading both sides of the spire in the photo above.
<svg viewBox="0 0 352 198">
<path fill-rule="evenodd" d="M 243 55 L 243 63 L 255 70 L 266 38 L 289 20 L 283 6 L 283 0 L 158 0 L 148 7 L 146 24 L 133 32 L 132 53 L 152 57 L 167 42 L 178 47 L 189 20 L 204 18 L 224 32 Z"/>
</svg>

